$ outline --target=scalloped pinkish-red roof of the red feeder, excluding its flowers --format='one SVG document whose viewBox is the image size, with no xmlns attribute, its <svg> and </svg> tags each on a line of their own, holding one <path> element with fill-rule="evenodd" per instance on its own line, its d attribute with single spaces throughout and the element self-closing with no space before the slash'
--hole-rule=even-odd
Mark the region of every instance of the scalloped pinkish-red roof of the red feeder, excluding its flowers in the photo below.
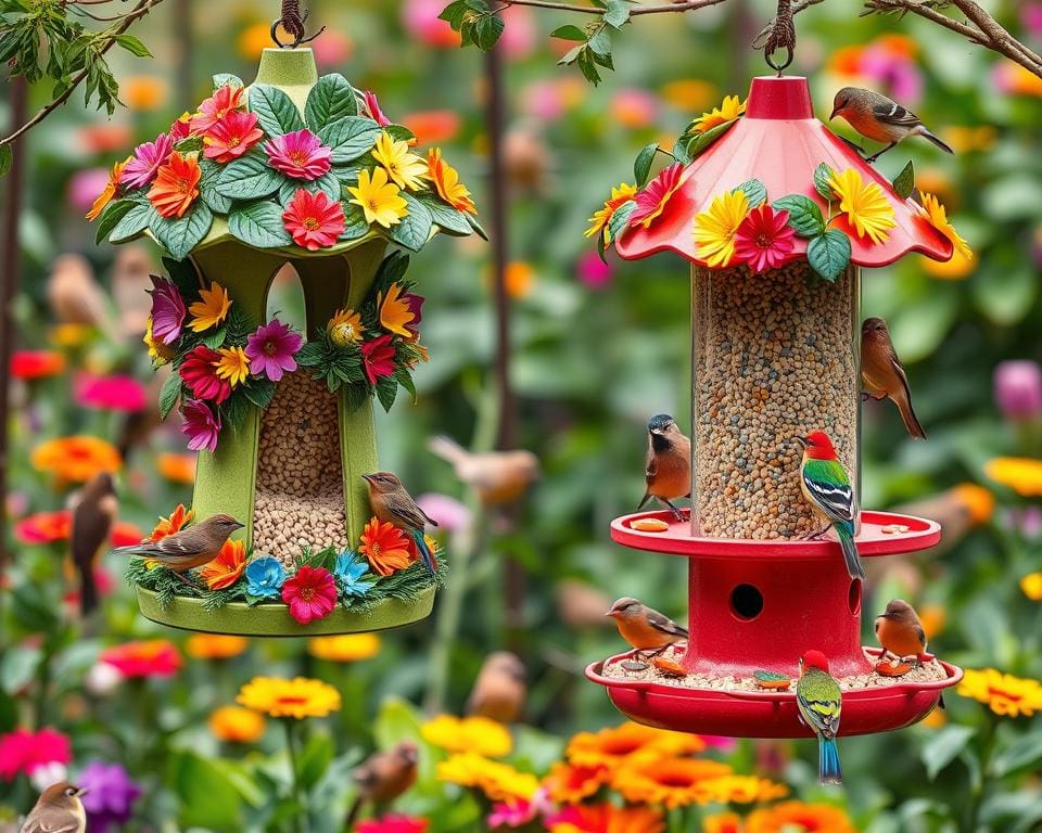
<svg viewBox="0 0 1042 833">
<path fill-rule="evenodd" d="M 886 266 L 908 252 L 920 252 L 935 260 L 949 260 L 952 244 L 919 214 L 911 200 L 898 196 L 890 182 L 865 163 L 850 146 L 814 118 L 806 78 L 763 76 L 752 79 L 746 115 L 684 170 L 684 184 L 666 203 L 649 229 L 627 228 L 615 240 L 615 249 L 627 260 L 658 252 L 676 252 L 704 266 L 695 249 L 695 216 L 709 208 L 713 198 L 750 179 L 767 189 L 767 198 L 803 194 L 825 214 L 825 200 L 814 190 L 814 169 L 821 163 L 834 170 L 857 170 L 866 182 L 878 182 L 893 206 L 897 227 L 882 243 L 856 235 L 841 217 L 835 226 L 851 240 L 851 260 L 859 266 Z M 835 207 L 835 203 L 834 203 Z M 806 240 L 796 239 L 787 258 L 805 256 Z"/>
</svg>

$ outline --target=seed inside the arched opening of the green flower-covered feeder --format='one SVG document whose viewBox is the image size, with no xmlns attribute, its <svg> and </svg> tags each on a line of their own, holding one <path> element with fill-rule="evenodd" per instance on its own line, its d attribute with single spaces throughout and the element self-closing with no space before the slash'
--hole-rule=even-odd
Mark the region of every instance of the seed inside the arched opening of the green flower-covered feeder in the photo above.
<svg viewBox="0 0 1042 833">
<path fill-rule="evenodd" d="M 253 546 L 293 566 L 305 547 L 347 549 L 336 397 L 306 371 L 282 376 L 260 420 Z"/>
</svg>

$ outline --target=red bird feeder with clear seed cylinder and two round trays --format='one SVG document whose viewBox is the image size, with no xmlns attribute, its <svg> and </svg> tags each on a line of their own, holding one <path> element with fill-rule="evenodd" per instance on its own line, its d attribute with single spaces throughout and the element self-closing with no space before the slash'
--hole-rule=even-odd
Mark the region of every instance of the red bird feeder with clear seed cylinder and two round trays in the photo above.
<svg viewBox="0 0 1042 833">
<path fill-rule="evenodd" d="M 814 118 L 804 78 L 755 78 L 745 116 L 724 118 L 687 133 L 683 164 L 601 215 L 622 257 L 672 251 L 692 264 L 691 521 L 643 512 L 611 526 L 626 547 L 689 559 L 689 639 L 672 655 L 687 677 L 638 670 L 636 652 L 587 677 L 643 723 L 802 738 L 811 731 L 795 680 L 800 656 L 817 650 L 843 688 L 841 734 L 905 727 L 962 670 L 932 658 L 902 677 L 874 670 L 879 651 L 861 644 L 861 580 L 835 534 L 804 539 L 821 523 L 801 494 L 793 438 L 830 435 L 853 484 L 862 558 L 940 540 L 931 521 L 856 512 L 860 267 L 910 252 L 946 260 L 956 238 L 929 200 L 907 198 L 910 181 L 891 184 Z M 668 528 L 635 528 L 641 518 Z"/>
</svg>

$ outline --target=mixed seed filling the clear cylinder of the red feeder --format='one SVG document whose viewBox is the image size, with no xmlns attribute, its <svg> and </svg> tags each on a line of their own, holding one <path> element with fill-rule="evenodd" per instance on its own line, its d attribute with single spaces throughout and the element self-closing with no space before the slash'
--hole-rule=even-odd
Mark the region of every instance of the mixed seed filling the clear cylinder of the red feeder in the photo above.
<svg viewBox="0 0 1042 833">
<path fill-rule="evenodd" d="M 692 290 L 699 535 L 796 538 L 818 529 L 800 491 L 801 447 L 823 428 L 856 487 L 857 283 L 805 260 L 763 274 L 696 269 Z"/>
</svg>

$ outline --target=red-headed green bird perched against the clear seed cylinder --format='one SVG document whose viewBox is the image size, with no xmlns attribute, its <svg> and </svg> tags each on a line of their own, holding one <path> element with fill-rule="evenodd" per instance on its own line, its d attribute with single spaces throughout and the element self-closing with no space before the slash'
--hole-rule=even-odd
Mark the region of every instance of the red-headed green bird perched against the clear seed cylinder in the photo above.
<svg viewBox="0 0 1042 833">
<path fill-rule="evenodd" d="M 864 578 L 865 568 L 854 543 L 854 492 L 850 488 L 847 470 L 836 457 L 833 440 L 824 431 L 812 431 L 805 437 L 796 437 L 803 446 L 800 463 L 800 487 L 814 511 L 828 522 L 839 536 L 839 544 L 851 578 Z M 828 527 L 811 537 L 819 537 Z"/>
</svg>

